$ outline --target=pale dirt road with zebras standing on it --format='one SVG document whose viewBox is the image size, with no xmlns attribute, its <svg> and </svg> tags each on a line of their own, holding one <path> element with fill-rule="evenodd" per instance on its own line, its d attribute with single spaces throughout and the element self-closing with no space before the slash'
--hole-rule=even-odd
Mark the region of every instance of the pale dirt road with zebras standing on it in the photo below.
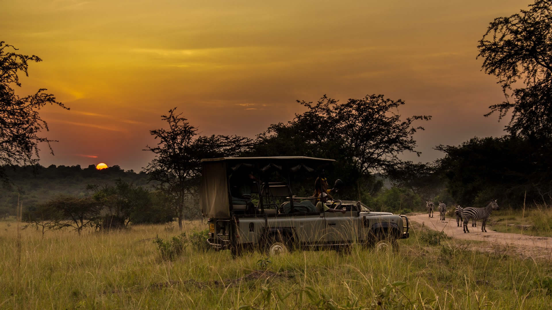
<svg viewBox="0 0 552 310">
<path fill-rule="evenodd" d="M 471 227 L 470 221 L 468 224 L 470 232 L 464 233 L 462 227 L 457 226 L 456 218 L 446 218 L 445 221 L 440 221 L 438 212 L 435 213 L 433 218 L 428 218 L 427 213 L 424 213 L 408 216 L 408 219 L 436 231 L 442 231 L 449 237 L 487 241 L 481 246 L 476 245 L 477 248 L 483 250 L 516 253 L 524 258 L 533 257 L 552 260 L 552 238 L 495 232 L 492 231 L 489 223 L 486 227 L 487 232 L 481 232 L 481 221 L 477 222 L 477 227 Z"/>
</svg>

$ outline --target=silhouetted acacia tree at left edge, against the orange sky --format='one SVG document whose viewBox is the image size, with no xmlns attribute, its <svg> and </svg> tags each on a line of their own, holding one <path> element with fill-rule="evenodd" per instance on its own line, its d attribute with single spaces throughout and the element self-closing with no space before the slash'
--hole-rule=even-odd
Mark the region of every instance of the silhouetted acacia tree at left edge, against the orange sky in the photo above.
<svg viewBox="0 0 552 310">
<path fill-rule="evenodd" d="M 54 154 L 50 142 L 39 135 L 42 130 L 48 130 L 39 111 L 46 104 L 59 105 L 52 94 L 45 93 L 41 88 L 35 94 L 19 97 L 15 94 L 12 84 L 21 87 L 19 72 L 28 76 L 29 62 L 42 61 L 38 56 L 17 54 L 13 45 L 0 41 L 0 167 L 7 164 L 36 164 L 39 160 L 40 142 L 45 142 Z M 6 174 L 0 169 L 0 178 L 6 179 Z"/>
</svg>

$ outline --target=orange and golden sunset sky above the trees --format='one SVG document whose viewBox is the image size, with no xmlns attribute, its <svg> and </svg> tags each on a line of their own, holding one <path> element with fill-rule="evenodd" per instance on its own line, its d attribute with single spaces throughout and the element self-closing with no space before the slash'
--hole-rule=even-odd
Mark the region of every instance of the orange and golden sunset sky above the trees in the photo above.
<svg viewBox="0 0 552 310">
<path fill-rule="evenodd" d="M 503 97 L 477 40 L 529 3 L 3 0 L 0 40 L 44 60 L 19 94 L 48 88 L 71 108 L 41 113 L 60 141 L 42 165 L 140 170 L 148 130 L 174 106 L 205 134 L 254 137 L 302 111 L 296 99 L 373 93 L 405 100 L 404 116 L 433 115 L 416 135 L 432 161 L 439 143 L 503 134 L 482 116 Z"/>
</svg>

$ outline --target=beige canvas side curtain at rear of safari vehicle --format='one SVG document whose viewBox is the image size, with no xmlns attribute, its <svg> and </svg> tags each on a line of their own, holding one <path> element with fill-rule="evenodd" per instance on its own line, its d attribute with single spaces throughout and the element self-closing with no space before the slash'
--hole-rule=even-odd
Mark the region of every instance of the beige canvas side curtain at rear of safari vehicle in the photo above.
<svg viewBox="0 0 552 310">
<path fill-rule="evenodd" d="M 205 217 L 230 218 L 225 162 L 203 163 L 199 205 Z"/>
</svg>

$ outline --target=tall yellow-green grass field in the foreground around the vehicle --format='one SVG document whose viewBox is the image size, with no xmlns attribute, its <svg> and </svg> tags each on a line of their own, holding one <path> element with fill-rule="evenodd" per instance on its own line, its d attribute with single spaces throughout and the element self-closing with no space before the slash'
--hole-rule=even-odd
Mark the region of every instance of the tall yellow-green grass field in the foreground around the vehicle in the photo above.
<svg viewBox="0 0 552 310">
<path fill-rule="evenodd" d="M 398 253 L 354 247 L 264 260 L 191 246 L 160 259 L 165 226 L 21 232 L 0 222 L 1 309 L 550 309 L 552 265 L 469 250 L 415 227 Z M 203 229 L 199 222 L 185 230 Z M 20 253 L 20 256 L 19 256 Z M 19 259 L 20 257 L 20 259 Z M 260 260 L 260 261 L 259 261 Z"/>
</svg>

